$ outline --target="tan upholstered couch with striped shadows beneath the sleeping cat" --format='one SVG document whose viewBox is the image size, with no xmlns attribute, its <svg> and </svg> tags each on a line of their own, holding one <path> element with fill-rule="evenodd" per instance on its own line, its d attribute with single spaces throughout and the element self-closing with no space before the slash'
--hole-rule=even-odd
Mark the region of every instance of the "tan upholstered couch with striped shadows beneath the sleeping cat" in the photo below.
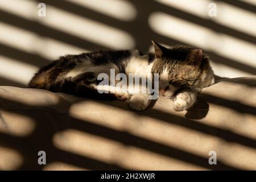
<svg viewBox="0 0 256 182">
<path fill-rule="evenodd" d="M 256 169 L 256 76 L 221 80 L 182 112 L 162 97 L 133 111 L 0 86 L 0 169 Z"/>
</svg>

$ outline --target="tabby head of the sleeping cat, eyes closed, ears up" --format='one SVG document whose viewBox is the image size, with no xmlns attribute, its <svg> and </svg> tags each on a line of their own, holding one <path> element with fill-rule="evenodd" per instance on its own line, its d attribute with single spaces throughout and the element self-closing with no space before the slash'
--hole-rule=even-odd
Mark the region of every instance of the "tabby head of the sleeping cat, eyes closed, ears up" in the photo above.
<svg viewBox="0 0 256 182">
<path fill-rule="evenodd" d="M 172 97 L 183 88 L 202 89 L 214 83 L 208 56 L 189 46 L 161 46 L 152 41 L 155 61 L 152 72 L 159 73 L 159 93 Z"/>
</svg>

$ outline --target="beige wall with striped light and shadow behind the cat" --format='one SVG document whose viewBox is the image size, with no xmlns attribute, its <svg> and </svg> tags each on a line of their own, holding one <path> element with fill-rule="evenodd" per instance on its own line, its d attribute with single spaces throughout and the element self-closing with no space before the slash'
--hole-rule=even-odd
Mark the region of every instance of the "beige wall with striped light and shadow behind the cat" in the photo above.
<svg viewBox="0 0 256 182">
<path fill-rule="evenodd" d="M 203 48 L 214 72 L 256 73 L 256 6 L 243 1 L 0 0 L 0 85 L 25 86 L 38 66 L 90 49 L 150 49 L 150 40 Z M 211 3 L 214 4 L 211 4 Z M 216 5 L 216 16 L 214 15 Z"/>
</svg>

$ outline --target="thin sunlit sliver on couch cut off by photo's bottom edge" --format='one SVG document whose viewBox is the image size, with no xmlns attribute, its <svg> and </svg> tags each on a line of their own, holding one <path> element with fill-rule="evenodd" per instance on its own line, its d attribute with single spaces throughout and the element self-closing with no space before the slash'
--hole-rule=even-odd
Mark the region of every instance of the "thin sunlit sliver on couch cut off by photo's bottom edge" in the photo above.
<svg viewBox="0 0 256 182">
<path fill-rule="evenodd" d="M 43 168 L 44 171 L 85 171 L 88 169 L 80 168 L 77 166 L 73 166 L 71 164 L 66 164 L 63 162 L 52 162 L 46 165 Z"/>
</svg>

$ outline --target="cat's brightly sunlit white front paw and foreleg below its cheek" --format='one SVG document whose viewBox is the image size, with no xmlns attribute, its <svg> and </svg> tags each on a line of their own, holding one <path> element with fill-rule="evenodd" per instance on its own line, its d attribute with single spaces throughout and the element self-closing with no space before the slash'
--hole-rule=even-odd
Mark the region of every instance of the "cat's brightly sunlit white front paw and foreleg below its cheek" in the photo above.
<svg viewBox="0 0 256 182">
<path fill-rule="evenodd" d="M 196 89 L 184 89 L 174 97 L 174 110 L 183 111 L 193 106 L 199 91 Z"/>
</svg>

